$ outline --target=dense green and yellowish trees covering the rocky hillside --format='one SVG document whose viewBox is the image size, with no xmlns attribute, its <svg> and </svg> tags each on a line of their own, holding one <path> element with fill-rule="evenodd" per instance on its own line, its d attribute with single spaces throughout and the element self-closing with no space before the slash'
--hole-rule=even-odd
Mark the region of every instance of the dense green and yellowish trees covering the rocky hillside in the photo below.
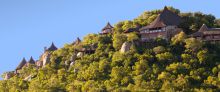
<svg viewBox="0 0 220 92">
<path fill-rule="evenodd" d="M 212 15 L 170 9 L 187 20 L 181 25 L 187 34 L 202 23 L 219 26 Z M 187 38 L 184 32 L 171 41 L 158 38 L 151 42 L 140 42 L 136 33 L 121 34 L 137 24 L 148 25 L 159 11 L 119 22 L 112 35 L 89 34 L 78 45 L 66 44 L 52 53 L 46 67 L 24 67 L 19 75 L 0 81 L 0 92 L 219 91 L 220 44 Z M 131 50 L 121 53 L 124 42 L 132 43 Z M 90 44 L 97 44 L 95 53 L 76 58 L 70 66 L 74 49 Z M 33 78 L 25 81 L 29 75 Z"/>
</svg>

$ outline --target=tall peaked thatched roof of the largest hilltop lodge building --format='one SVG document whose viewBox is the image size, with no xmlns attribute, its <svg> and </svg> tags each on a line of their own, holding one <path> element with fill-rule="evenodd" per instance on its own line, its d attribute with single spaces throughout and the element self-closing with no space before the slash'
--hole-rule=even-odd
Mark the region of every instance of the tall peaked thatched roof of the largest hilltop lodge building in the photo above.
<svg viewBox="0 0 220 92">
<path fill-rule="evenodd" d="M 169 25 L 178 26 L 181 22 L 181 17 L 178 14 L 168 10 L 167 7 L 164 7 L 164 10 L 157 16 L 157 18 L 148 26 L 141 28 L 140 30 L 152 29 L 152 28 L 161 28 Z"/>
</svg>

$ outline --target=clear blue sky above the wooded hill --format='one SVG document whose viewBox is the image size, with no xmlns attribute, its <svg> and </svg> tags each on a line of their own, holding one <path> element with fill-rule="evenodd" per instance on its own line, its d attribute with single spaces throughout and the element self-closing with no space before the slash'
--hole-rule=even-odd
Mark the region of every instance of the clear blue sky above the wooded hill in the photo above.
<svg viewBox="0 0 220 92">
<path fill-rule="evenodd" d="M 218 0 L 0 0 L 0 74 L 25 57 L 38 59 L 44 46 L 57 47 L 98 33 L 109 21 L 130 20 L 146 10 L 173 6 L 220 18 Z"/>
</svg>

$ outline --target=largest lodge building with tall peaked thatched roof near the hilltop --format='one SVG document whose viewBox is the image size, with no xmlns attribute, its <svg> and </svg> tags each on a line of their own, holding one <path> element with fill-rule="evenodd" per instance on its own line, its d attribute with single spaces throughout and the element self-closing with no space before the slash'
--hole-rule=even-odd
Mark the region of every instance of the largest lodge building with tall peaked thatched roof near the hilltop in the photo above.
<svg viewBox="0 0 220 92">
<path fill-rule="evenodd" d="M 180 22 L 181 17 L 165 7 L 150 25 L 140 28 L 141 40 L 147 41 L 158 37 L 170 40 L 181 31 L 178 28 Z"/>
</svg>

